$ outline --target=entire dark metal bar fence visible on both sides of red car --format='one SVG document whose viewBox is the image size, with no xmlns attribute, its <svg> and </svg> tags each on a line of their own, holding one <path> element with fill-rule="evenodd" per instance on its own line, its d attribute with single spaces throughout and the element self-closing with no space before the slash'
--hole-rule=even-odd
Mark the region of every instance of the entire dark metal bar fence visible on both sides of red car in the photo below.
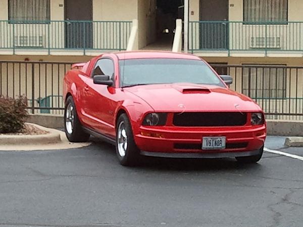
<svg viewBox="0 0 303 227">
<path fill-rule="evenodd" d="M 72 63 L 0 62 L 0 94 L 26 95 L 32 113 L 63 114 L 63 78 Z M 213 65 L 233 77 L 232 90 L 250 96 L 268 119 L 303 121 L 303 67 Z"/>
</svg>

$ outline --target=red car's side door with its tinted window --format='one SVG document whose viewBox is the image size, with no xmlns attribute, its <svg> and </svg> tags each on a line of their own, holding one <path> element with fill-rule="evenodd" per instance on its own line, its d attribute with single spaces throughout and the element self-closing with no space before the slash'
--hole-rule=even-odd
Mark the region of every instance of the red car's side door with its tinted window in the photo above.
<svg viewBox="0 0 303 227">
<path fill-rule="evenodd" d="M 93 83 L 93 76 L 106 75 L 114 81 L 114 61 L 110 58 L 97 60 L 91 77 L 86 81 L 85 88 L 85 113 L 89 119 L 89 126 L 105 136 L 115 135 L 114 111 L 116 107 L 115 85 L 107 86 Z"/>
</svg>

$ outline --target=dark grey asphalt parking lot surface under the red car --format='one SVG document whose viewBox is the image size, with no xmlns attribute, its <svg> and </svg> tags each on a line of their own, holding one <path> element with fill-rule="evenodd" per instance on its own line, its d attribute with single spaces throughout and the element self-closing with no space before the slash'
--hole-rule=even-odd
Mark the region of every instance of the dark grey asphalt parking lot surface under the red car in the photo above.
<svg viewBox="0 0 303 227">
<path fill-rule="evenodd" d="M 303 156 L 270 137 L 268 148 Z M 114 148 L 0 152 L 0 226 L 302 226 L 303 161 L 146 158 Z"/>
</svg>

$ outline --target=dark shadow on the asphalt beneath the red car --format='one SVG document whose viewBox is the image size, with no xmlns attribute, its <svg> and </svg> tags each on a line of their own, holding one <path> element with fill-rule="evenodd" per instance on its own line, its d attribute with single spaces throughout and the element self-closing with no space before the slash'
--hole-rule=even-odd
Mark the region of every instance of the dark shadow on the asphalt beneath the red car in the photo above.
<svg viewBox="0 0 303 227">
<path fill-rule="evenodd" d="M 110 156 L 111 159 L 116 159 L 115 146 L 104 142 L 98 138 L 91 138 L 93 146 L 98 149 L 100 154 Z M 118 161 L 115 160 L 119 165 Z M 126 168 L 142 169 L 150 171 L 228 171 L 228 170 L 250 170 L 261 168 L 259 163 L 241 164 L 235 158 L 216 158 L 216 159 L 203 159 L 203 158 L 159 158 L 140 156 L 138 164 Z"/>
</svg>

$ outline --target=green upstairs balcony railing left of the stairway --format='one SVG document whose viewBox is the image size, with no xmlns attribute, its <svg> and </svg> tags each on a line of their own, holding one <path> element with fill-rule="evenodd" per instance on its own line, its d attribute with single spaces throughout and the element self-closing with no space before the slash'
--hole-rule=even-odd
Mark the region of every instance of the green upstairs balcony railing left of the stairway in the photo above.
<svg viewBox="0 0 303 227">
<path fill-rule="evenodd" d="M 0 21 L 0 50 L 124 50 L 130 21 Z"/>
</svg>

